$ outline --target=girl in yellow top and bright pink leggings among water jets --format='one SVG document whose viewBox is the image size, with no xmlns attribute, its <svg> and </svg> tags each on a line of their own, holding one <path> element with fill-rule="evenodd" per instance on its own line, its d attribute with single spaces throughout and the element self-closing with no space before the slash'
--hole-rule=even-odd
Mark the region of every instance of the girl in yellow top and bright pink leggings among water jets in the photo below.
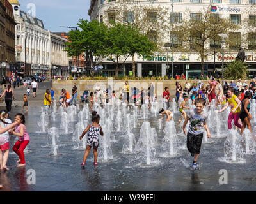
<svg viewBox="0 0 256 204">
<path fill-rule="evenodd" d="M 231 106 L 231 112 L 228 115 L 228 129 L 232 129 L 232 125 L 231 122 L 234 119 L 234 124 L 235 126 L 237 126 L 238 128 L 242 128 L 241 124 L 239 124 L 238 120 L 239 120 L 239 113 L 240 113 L 240 104 L 241 101 L 237 98 L 236 95 L 234 95 L 234 89 L 229 88 L 227 91 L 228 94 L 228 101 L 227 101 L 227 105 L 222 108 L 220 112 L 223 112 L 228 105 Z"/>
</svg>

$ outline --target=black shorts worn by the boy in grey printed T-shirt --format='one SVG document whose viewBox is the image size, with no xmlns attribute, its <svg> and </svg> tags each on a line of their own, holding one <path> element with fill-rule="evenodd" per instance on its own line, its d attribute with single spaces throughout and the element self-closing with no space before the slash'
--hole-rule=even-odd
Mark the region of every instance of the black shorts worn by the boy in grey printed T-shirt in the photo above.
<svg viewBox="0 0 256 204">
<path fill-rule="evenodd" d="M 188 151 L 193 154 L 200 154 L 202 139 L 203 139 L 203 133 L 199 135 L 193 135 L 191 133 L 188 133 L 187 135 Z"/>
</svg>

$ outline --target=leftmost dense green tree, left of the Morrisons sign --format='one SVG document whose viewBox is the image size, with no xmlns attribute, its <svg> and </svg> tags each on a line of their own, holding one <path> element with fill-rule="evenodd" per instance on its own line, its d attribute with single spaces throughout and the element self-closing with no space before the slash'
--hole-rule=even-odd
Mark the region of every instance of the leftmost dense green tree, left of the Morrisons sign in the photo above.
<svg viewBox="0 0 256 204">
<path fill-rule="evenodd" d="M 95 73 L 95 66 L 99 59 L 106 55 L 106 31 L 107 27 L 100 24 L 96 20 L 88 22 L 88 20 L 79 19 L 77 26 L 81 29 L 77 31 L 69 31 L 68 42 L 66 43 L 69 56 L 77 56 L 85 53 L 86 59 L 89 61 L 90 75 Z"/>
</svg>

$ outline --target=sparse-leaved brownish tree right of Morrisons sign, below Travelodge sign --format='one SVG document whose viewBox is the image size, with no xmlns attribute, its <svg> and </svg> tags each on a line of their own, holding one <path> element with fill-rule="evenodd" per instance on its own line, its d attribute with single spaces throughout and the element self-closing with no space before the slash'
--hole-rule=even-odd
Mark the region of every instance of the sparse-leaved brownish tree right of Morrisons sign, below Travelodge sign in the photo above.
<svg viewBox="0 0 256 204">
<path fill-rule="evenodd" d="M 221 52 L 221 38 L 218 34 L 239 29 L 229 19 L 220 18 L 211 12 L 209 7 L 199 13 L 190 13 L 190 19 L 185 19 L 181 25 L 173 25 L 175 38 L 180 42 L 176 48 L 183 52 L 196 52 L 201 61 L 201 74 L 204 75 L 204 60 L 216 52 Z M 207 46 L 210 45 L 210 46 Z"/>
</svg>

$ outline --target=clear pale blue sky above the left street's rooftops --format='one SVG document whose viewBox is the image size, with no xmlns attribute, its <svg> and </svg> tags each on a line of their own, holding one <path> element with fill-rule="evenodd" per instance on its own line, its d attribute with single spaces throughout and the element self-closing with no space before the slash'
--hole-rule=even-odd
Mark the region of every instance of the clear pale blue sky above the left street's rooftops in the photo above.
<svg viewBox="0 0 256 204">
<path fill-rule="evenodd" d="M 18 0 L 20 9 L 28 12 L 29 3 L 35 4 L 36 17 L 43 20 L 45 29 L 52 32 L 69 31 L 60 26 L 76 27 L 79 18 L 90 20 L 90 0 Z"/>
</svg>

